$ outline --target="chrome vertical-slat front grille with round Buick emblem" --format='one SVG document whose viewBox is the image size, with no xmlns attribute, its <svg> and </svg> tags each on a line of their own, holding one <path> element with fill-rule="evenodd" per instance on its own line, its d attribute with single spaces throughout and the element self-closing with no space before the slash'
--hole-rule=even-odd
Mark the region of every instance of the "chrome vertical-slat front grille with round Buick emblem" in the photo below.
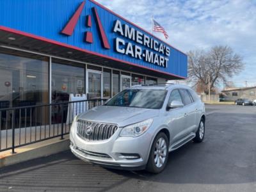
<svg viewBox="0 0 256 192">
<path fill-rule="evenodd" d="M 77 121 L 77 135 L 87 141 L 108 140 L 118 129 L 117 125 L 89 122 L 85 120 Z"/>
</svg>

